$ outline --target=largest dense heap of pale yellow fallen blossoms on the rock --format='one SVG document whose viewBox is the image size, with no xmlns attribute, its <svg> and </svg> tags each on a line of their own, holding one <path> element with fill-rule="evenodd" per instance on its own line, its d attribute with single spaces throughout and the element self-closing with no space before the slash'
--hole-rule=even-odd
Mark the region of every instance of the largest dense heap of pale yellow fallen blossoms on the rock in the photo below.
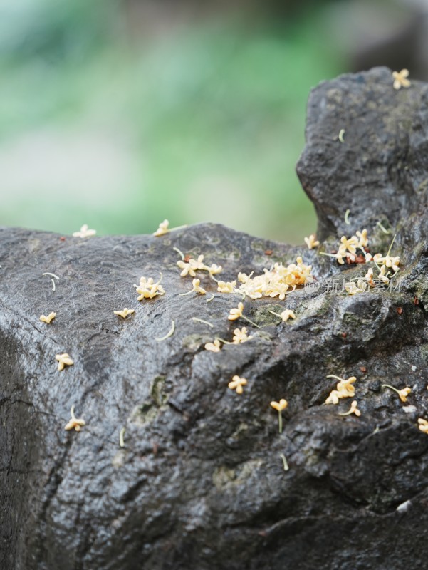
<svg viewBox="0 0 428 570">
<path fill-rule="evenodd" d="M 305 265 L 303 259 L 298 257 L 295 264 L 283 266 L 281 263 L 276 263 L 271 269 L 263 269 L 263 275 L 251 277 L 239 273 L 238 280 L 241 285 L 236 291 L 251 299 L 278 297 L 282 301 L 286 294 L 296 289 L 296 286 L 304 285 L 313 279 L 310 274 L 311 269 L 311 265 Z"/>
</svg>

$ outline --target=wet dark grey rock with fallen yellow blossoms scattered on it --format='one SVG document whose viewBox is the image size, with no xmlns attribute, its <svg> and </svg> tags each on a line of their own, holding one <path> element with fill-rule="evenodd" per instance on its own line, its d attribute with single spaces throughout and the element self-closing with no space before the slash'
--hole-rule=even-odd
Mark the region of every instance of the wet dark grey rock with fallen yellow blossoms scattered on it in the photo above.
<svg viewBox="0 0 428 570">
<path fill-rule="evenodd" d="M 308 105 L 298 174 L 320 249 L 367 227 L 372 253 L 385 254 L 397 232 L 394 291 L 329 291 L 367 267 L 211 224 L 160 238 L 0 230 L 1 569 L 426 567 L 427 103 L 427 85 L 395 91 L 377 68 L 322 83 Z M 240 297 L 178 296 L 192 279 L 179 276 L 173 247 L 223 265 L 222 279 L 301 253 L 319 287 L 247 299 L 261 328 L 210 353 L 204 343 L 246 325 L 227 320 Z M 45 271 L 59 276 L 56 291 Z M 138 302 L 132 284 L 159 271 L 165 296 Z M 135 314 L 122 321 L 113 310 L 124 306 Z M 295 321 L 268 312 L 284 306 Z M 49 311 L 46 326 L 38 317 Z M 172 319 L 174 335 L 156 341 Z M 75 364 L 58 372 L 61 352 Z M 234 374 L 249 380 L 241 396 L 227 388 Z M 323 405 L 328 374 L 357 376 L 360 418 L 338 415 L 349 399 Z M 408 402 L 385 382 L 412 387 Z M 281 435 L 269 406 L 279 398 L 289 402 Z M 63 429 L 73 404 L 80 433 Z"/>
</svg>

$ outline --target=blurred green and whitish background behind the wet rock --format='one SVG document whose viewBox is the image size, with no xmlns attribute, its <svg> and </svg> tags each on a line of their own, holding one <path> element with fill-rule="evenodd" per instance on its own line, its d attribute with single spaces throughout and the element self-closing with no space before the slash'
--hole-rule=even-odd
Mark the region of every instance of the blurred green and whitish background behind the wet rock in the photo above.
<svg viewBox="0 0 428 570">
<path fill-rule="evenodd" d="M 423 75 L 400 36 L 420 12 L 362 4 L 1 0 L 0 224 L 135 234 L 167 218 L 302 242 L 310 89 L 379 63 Z M 395 48 L 367 50 L 391 28 Z"/>
</svg>

